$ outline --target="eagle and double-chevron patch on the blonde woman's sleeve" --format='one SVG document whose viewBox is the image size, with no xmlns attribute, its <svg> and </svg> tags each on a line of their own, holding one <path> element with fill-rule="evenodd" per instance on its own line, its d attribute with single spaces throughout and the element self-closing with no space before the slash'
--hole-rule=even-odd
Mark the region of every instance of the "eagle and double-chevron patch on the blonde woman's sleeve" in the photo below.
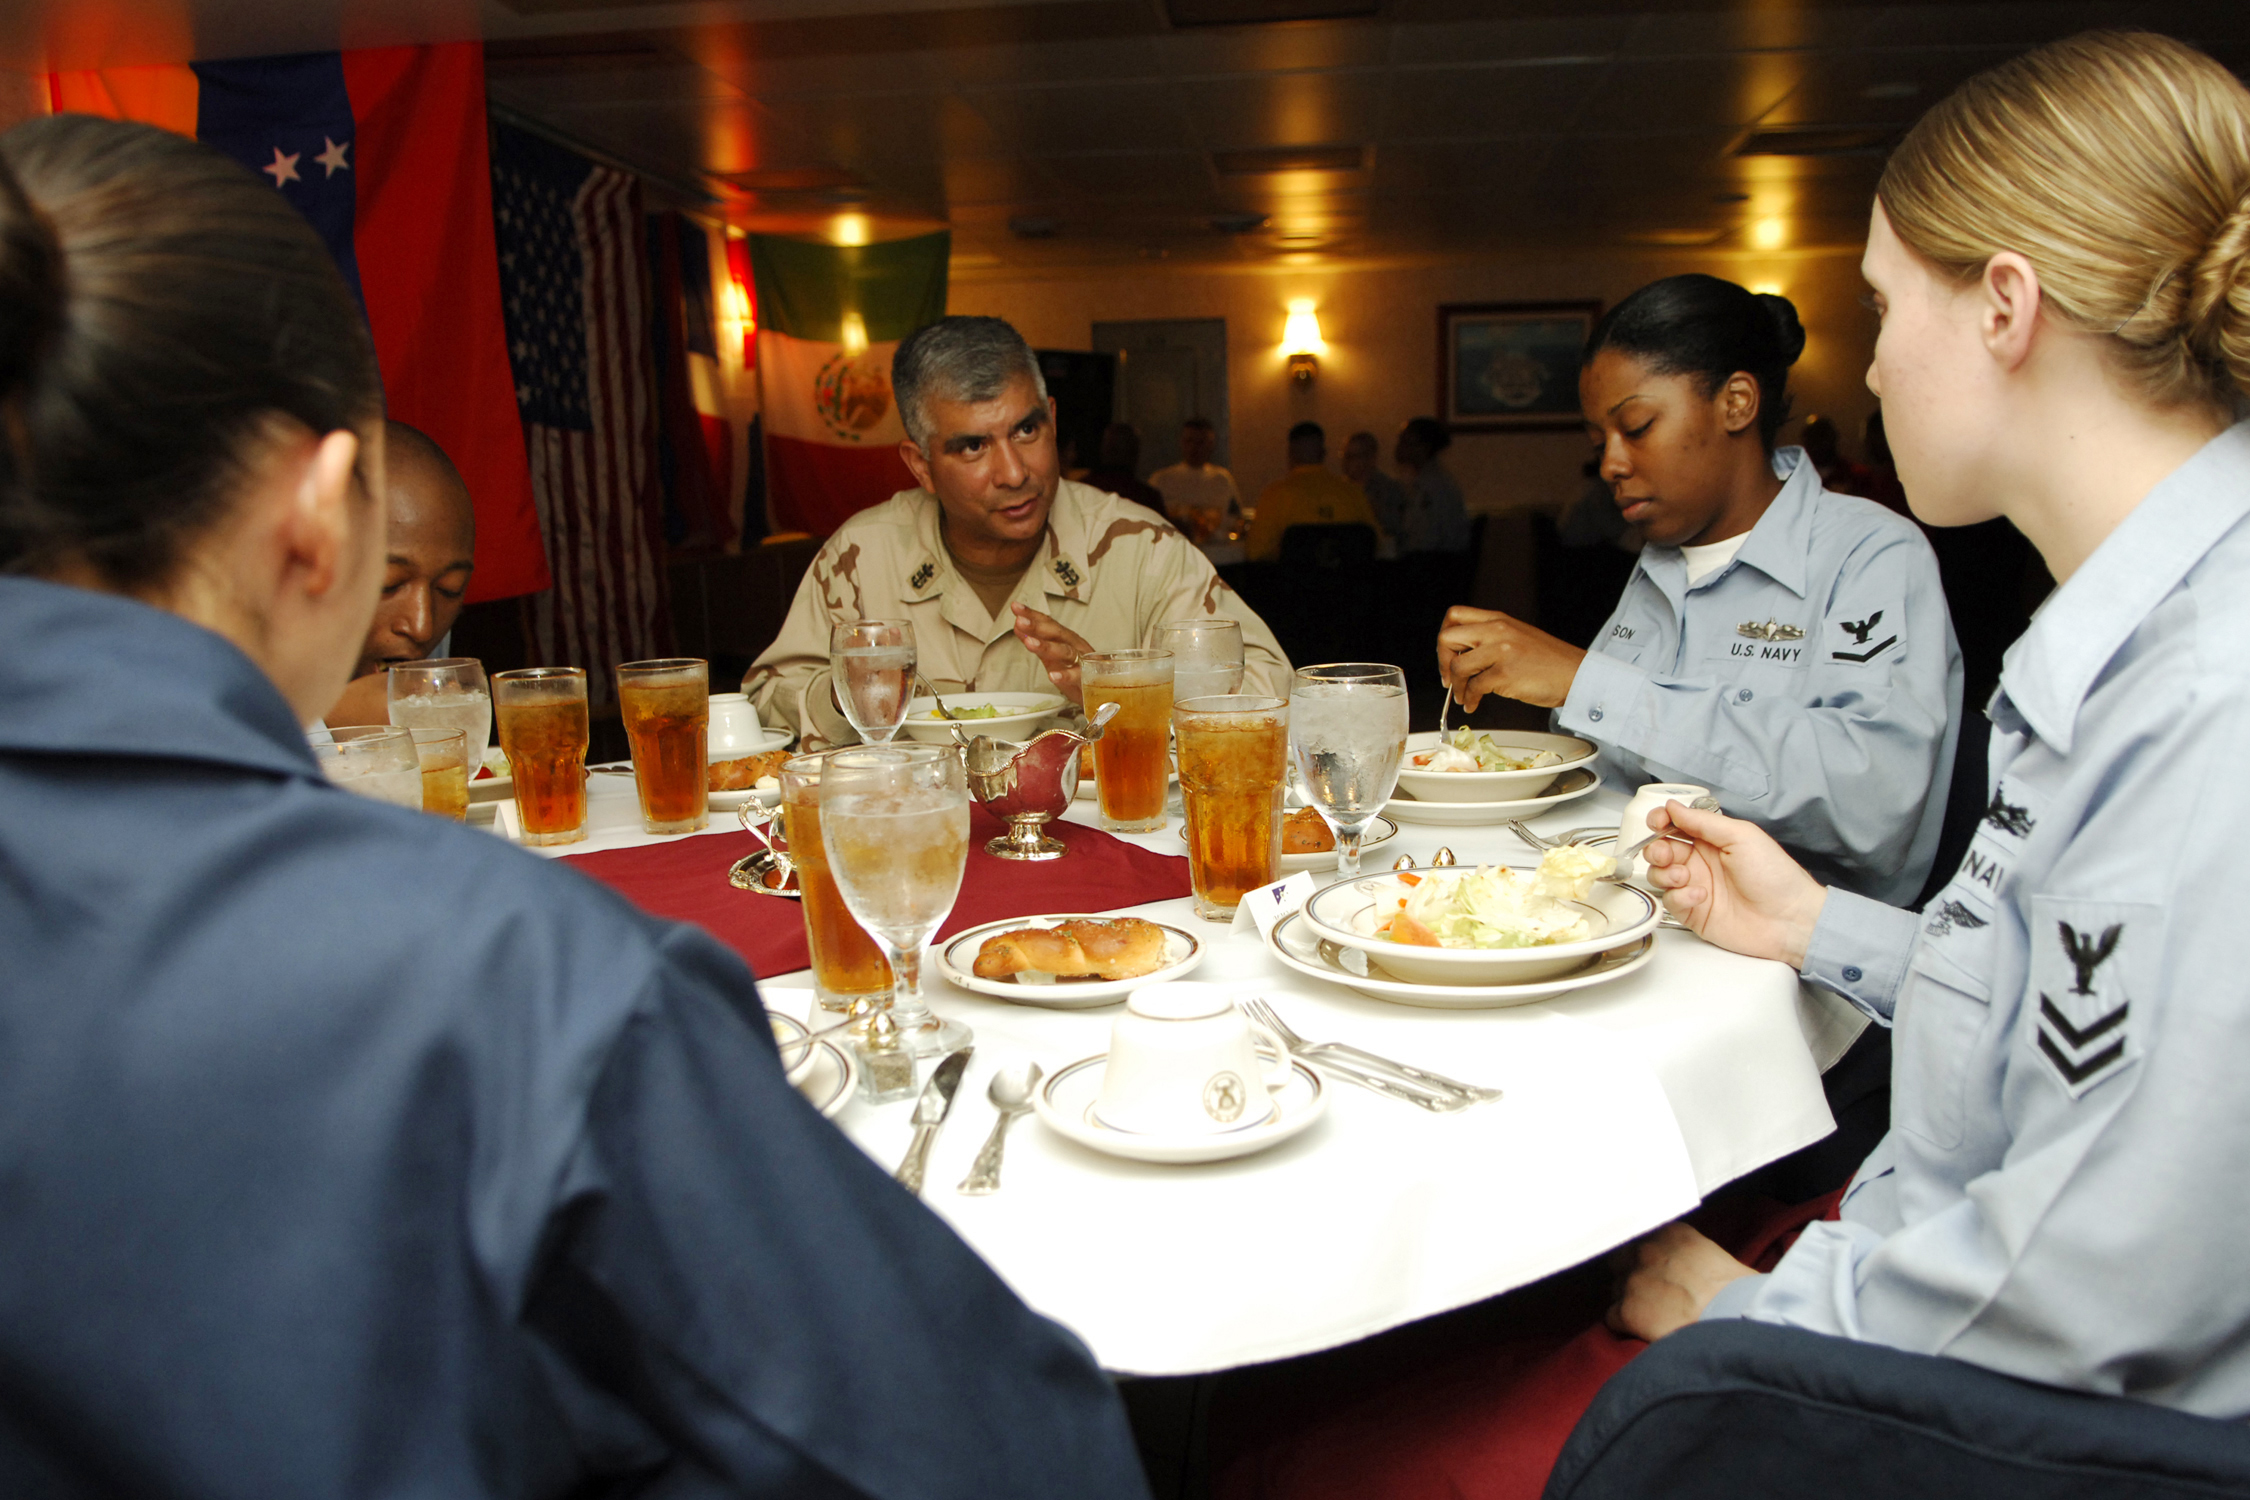
<svg viewBox="0 0 2250 1500">
<path fill-rule="evenodd" d="M 2133 999 L 2162 920 L 2117 902 L 2032 902 L 2032 1046 L 2072 1100 L 2140 1057 Z"/>
</svg>

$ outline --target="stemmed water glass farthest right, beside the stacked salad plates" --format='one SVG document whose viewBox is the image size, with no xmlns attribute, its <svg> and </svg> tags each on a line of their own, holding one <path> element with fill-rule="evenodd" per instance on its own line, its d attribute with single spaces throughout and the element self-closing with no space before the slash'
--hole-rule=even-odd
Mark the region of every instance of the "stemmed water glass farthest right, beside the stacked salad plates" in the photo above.
<svg viewBox="0 0 2250 1500">
<path fill-rule="evenodd" d="M 1377 661 L 1300 666 L 1289 684 L 1289 749 L 1305 794 L 1336 830 L 1336 875 L 1357 879 L 1359 839 L 1406 758 L 1406 672 Z"/>
</svg>

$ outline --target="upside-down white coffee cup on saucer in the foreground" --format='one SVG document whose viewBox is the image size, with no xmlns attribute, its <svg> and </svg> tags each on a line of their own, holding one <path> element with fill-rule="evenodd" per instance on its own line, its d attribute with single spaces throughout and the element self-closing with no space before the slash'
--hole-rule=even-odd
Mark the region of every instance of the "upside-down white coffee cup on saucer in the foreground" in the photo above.
<svg viewBox="0 0 2250 1500">
<path fill-rule="evenodd" d="M 1094 1118 L 1136 1136 L 1240 1131 L 1274 1115 L 1287 1079 L 1280 1037 L 1244 1016 L 1224 987 L 1143 985 L 1109 1028 Z"/>
</svg>

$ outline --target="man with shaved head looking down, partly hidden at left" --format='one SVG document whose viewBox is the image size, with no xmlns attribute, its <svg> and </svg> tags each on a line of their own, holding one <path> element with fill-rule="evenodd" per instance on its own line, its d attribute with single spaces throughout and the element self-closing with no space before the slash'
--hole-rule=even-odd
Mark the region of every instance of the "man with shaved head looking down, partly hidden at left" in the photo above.
<svg viewBox="0 0 2250 1500">
<path fill-rule="evenodd" d="M 385 423 L 382 452 L 389 517 L 382 603 L 328 724 L 389 724 L 392 663 L 423 661 L 452 634 L 477 567 L 477 510 L 446 450 L 405 423 Z"/>
</svg>

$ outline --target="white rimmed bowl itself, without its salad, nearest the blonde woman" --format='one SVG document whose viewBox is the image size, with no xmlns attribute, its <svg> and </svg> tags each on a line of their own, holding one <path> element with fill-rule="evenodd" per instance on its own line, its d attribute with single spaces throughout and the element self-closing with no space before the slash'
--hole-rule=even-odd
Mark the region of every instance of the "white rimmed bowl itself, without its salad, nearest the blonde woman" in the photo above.
<svg viewBox="0 0 2250 1500">
<path fill-rule="evenodd" d="M 1397 978 L 1418 985 L 1510 985 L 1539 978 L 1562 978 L 1595 954 L 1606 954 L 1656 929 L 1656 897 L 1638 886 L 1613 879 L 1593 882 L 1584 900 L 1568 902 L 1586 918 L 1586 938 L 1539 942 L 1514 949 L 1418 947 L 1393 942 L 1377 924 L 1424 879 L 1462 879 L 1467 866 L 1447 870 L 1384 870 L 1359 879 L 1339 879 L 1305 897 L 1305 924 L 1323 938 L 1366 949 Z"/>
</svg>

